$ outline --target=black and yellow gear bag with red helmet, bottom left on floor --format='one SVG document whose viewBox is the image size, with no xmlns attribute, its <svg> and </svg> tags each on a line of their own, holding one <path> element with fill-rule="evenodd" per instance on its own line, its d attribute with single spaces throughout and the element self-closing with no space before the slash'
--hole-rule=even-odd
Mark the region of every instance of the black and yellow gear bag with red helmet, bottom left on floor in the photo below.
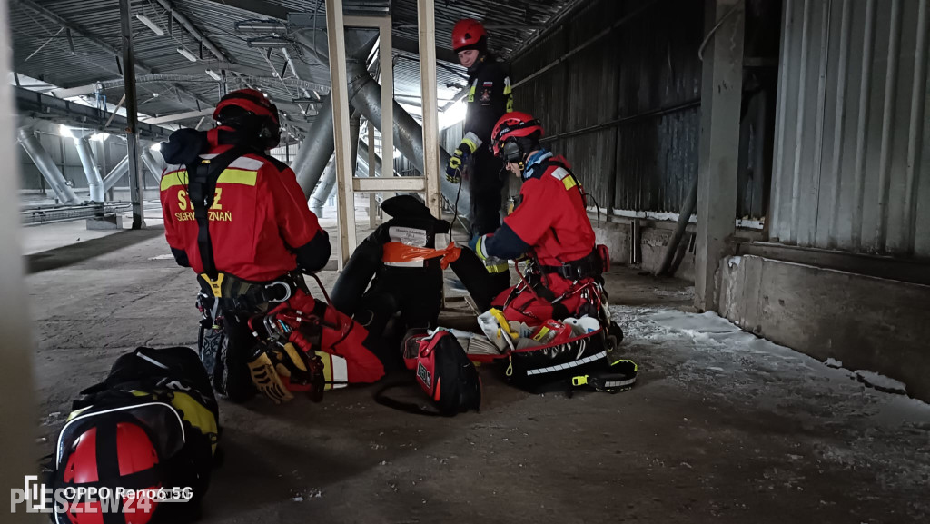
<svg viewBox="0 0 930 524">
<path fill-rule="evenodd" d="M 140 347 L 119 357 L 106 380 L 73 402 L 48 464 L 47 483 L 53 488 L 95 488 L 100 495 L 109 492 L 108 500 L 74 499 L 69 503 L 79 510 L 53 513 L 52 521 L 193 521 L 218 443 L 217 402 L 196 352 Z M 124 490 L 164 490 L 188 502 L 120 496 Z M 119 511 L 101 513 L 108 502 Z"/>
</svg>

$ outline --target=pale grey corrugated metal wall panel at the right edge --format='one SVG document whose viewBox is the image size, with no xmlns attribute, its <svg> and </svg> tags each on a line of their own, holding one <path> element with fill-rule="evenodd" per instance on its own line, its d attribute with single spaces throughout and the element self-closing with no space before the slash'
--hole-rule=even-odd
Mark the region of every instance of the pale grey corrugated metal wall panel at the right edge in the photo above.
<svg viewBox="0 0 930 524">
<path fill-rule="evenodd" d="M 930 256 L 928 0 L 786 0 L 770 236 Z"/>
</svg>

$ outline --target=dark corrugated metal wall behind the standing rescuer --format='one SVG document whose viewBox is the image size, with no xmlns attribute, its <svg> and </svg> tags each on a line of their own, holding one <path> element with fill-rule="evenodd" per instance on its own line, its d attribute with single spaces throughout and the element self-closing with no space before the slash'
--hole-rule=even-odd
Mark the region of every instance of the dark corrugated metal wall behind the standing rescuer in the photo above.
<svg viewBox="0 0 930 524">
<path fill-rule="evenodd" d="M 601 207 L 677 211 L 697 176 L 703 2 L 596 1 L 512 62 L 514 108 L 540 118 Z M 669 16 L 673 13 L 674 16 Z M 611 26 L 620 22 L 617 28 Z"/>
</svg>

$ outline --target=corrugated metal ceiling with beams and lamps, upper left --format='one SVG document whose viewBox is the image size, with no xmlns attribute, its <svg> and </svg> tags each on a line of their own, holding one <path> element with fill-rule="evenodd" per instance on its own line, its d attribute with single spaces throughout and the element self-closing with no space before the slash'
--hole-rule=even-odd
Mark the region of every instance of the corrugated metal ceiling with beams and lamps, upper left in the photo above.
<svg viewBox="0 0 930 524">
<path fill-rule="evenodd" d="M 320 29 L 317 41 L 326 47 L 325 6 L 322 1 L 280 1 L 266 0 L 245 2 L 227 0 L 235 6 L 248 6 L 253 10 L 223 5 L 227 2 L 216 0 L 175 0 L 174 9 L 187 17 L 202 34 L 215 44 L 240 74 L 248 75 L 252 81 L 238 78 L 236 73 L 228 72 L 228 88 L 255 86 L 266 91 L 288 119 L 297 128 L 306 128 L 312 121 L 315 108 L 307 104 L 297 106 L 294 98 L 302 98 L 306 93 L 296 87 L 286 87 L 277 78 L 285 71 L 286 59 L 281 48 L 248 47 L 247 39 L 259 34 L 238 33 L 235 22 L 243 20 L 267 19 L 280 16 L 287 10 L 316 13 Z M 347 11 L 359 8 L 383 8 L 390 4 L 392 9 L 392 37 L 395 41 L 416 43 L 417 34 L 417 0 L 344 0 Z M 52 13 L 75 27 L 84 34 L 95 37 L 109 47 L 119 49 L 120 15 L 119 3 L 115 0 L 32 0 L 31 4 Z M 477 0 L 445 0 L 436 5 L 436 41 L 437 47 L 451 51 L 451 31 L 457 20 L 472 17 L 483 20 L 491 33 L 492 50 L 506 56 L 518 47 L 525 38 L 545 26 L 551 17 L 570 4 L 569 0 L 502 0 L 484 2 Z M 78 87 L 93 84 L 101 80 L 119 78 L 119 64 L 113 54 L 106 53 L 81 34 L 72 34 L 71 42 L 67 32 L 59 24 L 33 12 L 33 9 L 14 0 L 10 3 L 10 30 L 13 36 L 13 58 L 15 71 L 44 80 L 60 87 Z M 220 68 L 217 59 L 206 47 L 201 48 L 197 40 L 185 31 L 177 20 L 171 20 L 169 12 L 153 0 L 133 0 L 132 32 L 133 48 L 137 65 L 137 75 L 152 73 L 190 74 L 193 78 L 174 82 L 146 82 L 138 87 L 141 114 L 163 115 L 192 111 L 215 103 L 219 97 L 219 83 L 206 75 L 206 69 L 214 71 Z M 164 34 L 155 34 L 135 15 L 144 15 L 160 26 Z M 309 20 L 316 20 L 309 17 Z M 288 31 L 295 28 L 290 27 Z M 285 34 L 287 36 L 287 34 Z M 73 51 L 71 46 L 73 45 Z M 191 61 L 184 58 L 177 49 L 184 47 L 197 58 Z M 395 46 L 400 47 L 400 46 Z M 289 46 L 288 51 L 298 68 L 299 78 L 323 86 L 329 83 L 329 71 L 320 66 L 309 55 L 302 53 L 297 45 Z M 394 52 L 395 93 L 399 101 L 408 102 L 405 106 L 411 113 L 419 114 L 419 62 L 417 56 L 405 51 Z M 458 64 L 440 62 L 444 67 L 437 71 L 440 106 L 451 99 L 458 91 L 458 85 L 464 85 L 460 77 L 463 70 Z M 143 71 L 142 67 L 145 69 Z M 290 78 L 294 72 L 289 68 L 285 77 Z M 182 92 L 179 92 L 182 91 Z M 320 92 L 320 94 L 324 94 Z M 115 103 L 123 96 L 121 87 L 108 88 L 103 92 L 106 101 Z M 199 99 L 198 101 L 193 100 Z M 308 110 L 310 115 L 303 116 L 300 109 Z M 180 125 L 193 126 L 199 117 L 180 121 Z"/>
</svg>

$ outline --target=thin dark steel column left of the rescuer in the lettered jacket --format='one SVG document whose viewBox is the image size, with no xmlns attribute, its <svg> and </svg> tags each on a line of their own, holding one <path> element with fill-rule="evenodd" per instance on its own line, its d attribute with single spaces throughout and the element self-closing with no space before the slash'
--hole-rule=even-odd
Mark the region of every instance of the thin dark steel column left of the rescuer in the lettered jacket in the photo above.
<svg viewBox="0 0 930 524">
<path fill-rule="evenodd" d="M 145 208 L 142 205 L 142 172 L 139 168 L 139 114 L 136 99 L 136 68 L 132 53 L 132 23 L 129 0 L 119 1 L 120 29 L 123 36 L 123 77 L 126 80 L 126 155 L 129 157 L 129 200 L 132 202 L 132 228 L 145 226 Z"/>
</svg>

